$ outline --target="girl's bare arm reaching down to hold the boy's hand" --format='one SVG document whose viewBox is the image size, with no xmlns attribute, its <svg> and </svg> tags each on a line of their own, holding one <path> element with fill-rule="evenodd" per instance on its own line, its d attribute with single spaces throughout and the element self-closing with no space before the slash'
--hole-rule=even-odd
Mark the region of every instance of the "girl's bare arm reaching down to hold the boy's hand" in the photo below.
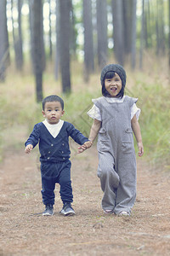
<svg viewBox="0 0 170 256">
<path fill-rule="evenodd" d="M 87 148 L 90 148 L 92 146 L 95 138 L 98 135 L 100 127 L 101 127 L 101 121 L 99 121 L 98 119 L 94 119 L 94 124 L 92 125 L 90 134 L 89 134 L 89 141 L 87 142 L 88 144 L 85 145 L 85 143 L 84 143 L 81 147 L 79 147 L 78 153 L 82 153 L 84 150 L 86 150 Z"/>
</svg>

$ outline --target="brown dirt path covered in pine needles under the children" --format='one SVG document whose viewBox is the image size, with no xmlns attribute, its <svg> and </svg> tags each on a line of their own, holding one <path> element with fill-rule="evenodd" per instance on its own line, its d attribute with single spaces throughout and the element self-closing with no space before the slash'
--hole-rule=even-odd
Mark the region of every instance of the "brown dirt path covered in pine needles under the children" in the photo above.
<svg viewBox="0 0 170 256">
<path fill-rule="evenodd" d="M 0 255 L 170 255 L 170 173 L 150 171 L 139 160 L 132 216 L 106 216 L 97 159 L 95 148 L 72 158 L 77 215 L 59 215 L 56 186 L 54 216 L 42 217 L 36 151 L 9 153 L 0 166 Z"/>
</svg>

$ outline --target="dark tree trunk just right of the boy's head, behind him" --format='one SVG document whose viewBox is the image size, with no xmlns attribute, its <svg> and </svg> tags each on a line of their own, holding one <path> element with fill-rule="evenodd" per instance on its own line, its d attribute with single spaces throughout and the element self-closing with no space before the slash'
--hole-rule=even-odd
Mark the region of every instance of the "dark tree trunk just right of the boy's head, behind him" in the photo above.
<svg viewBox="0 0 170 256">
<path fill-rule="evenodd" d="M 70 71 L 70 13 L 71 0 L 59 0 L 59 61 L 64 93 L 71 92 Z"/>
</svg>

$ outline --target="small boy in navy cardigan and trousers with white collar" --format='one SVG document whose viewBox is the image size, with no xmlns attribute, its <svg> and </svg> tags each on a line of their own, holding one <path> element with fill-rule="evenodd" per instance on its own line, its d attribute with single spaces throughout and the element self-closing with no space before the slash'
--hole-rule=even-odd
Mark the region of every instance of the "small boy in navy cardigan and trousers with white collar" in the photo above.
<svg viewBox="0 0 170 256">
<path fill-rule="evenodd" d="M 46 206 L 42 215 L 54 214 L 55 183 L 60 185 L 60 197 L 63 201 L 61 214 L 74 215 L 71 207 L 73 201 L 71 188 L 71 161 L 69 137 L 90 148 L 92 143 L 84 137 L 71 123 L 60 118 L 64 115 L 64 102 L 59 96 L 47 96 L 42 101 L 42 114 L 45 120 L 34 126 L 30 137 L 26 141 L 26 154 L 39 143 L 41 175 L 42 175 L 42 202 Z"/>
</svg>

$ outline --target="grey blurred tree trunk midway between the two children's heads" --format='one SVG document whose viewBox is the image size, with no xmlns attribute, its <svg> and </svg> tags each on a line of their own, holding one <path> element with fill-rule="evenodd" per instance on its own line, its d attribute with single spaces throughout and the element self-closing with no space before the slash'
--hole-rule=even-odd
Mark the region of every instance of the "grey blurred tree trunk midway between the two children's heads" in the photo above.
<svg viewBox="0 0 170 256">
<path fill-rule="evenodd" d="M 88 82 L 89 74 L 94 71 L 94 39 L 92 25 L 92 0 L 83 0 L 84 26 L 84 79 Z"/>
</svg>

